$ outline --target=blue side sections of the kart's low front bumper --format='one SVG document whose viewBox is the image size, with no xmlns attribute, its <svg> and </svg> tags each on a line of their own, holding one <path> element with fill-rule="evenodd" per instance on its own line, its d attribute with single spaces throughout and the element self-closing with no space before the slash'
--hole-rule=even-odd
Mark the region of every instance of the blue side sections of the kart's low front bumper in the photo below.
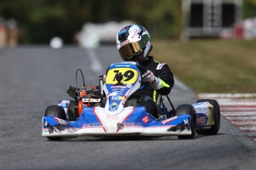
<svg viewBox="0 0 256 170">
<path fill-rule="evenodd" d="M 53 130 L 53 128 L 58 129 L 59 131 L 65 129 L 73 129 L 73 132 L 78 131 L 79 129 L 99 127 L 105 129 L 101 120 L 95 113 L 95 107 L 88 107 L 84 109 L 82 115 L 76 121 L 67 121 L 61 120 L 59 118 L 54 118 L 53 116 L 47 116 L 43 118 L 43 124 L 45 132 Z M 114 116 L 112 116 L 114 118 Z M 143 127 L 143 128 L 157 128 L 157 127 L 178 127 L 178 129 L 189 129 L 190 115 L 179 115 L 174 118 L 169 118 L 166 120 L 155 120 L 151 115 L 145 112 L 144 106 L 133 107 L 133 111 L 125 118 L 120 125 L 125 127 Z M 117 123 L 116 123 L 117 125 Z M 75 130 L 75 131 L 74 131 Z M 122 132 L 118 131 L 116 126 L 116 133 Z M 166 132 L 169 129 L 166 129 Z M 175 129 L 174 129 L 175 130 Z M 177 129 L 176 129 L 177 130 Z M 108 131 L 105 129 L 105 133 Z M 118 131 L 118 132 L 117 132 Z"/>
</svg>

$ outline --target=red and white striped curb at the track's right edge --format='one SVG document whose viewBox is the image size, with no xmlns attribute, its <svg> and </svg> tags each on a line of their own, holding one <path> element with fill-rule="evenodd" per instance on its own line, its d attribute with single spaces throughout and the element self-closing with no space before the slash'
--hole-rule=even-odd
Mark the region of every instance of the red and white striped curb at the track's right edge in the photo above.
<svg viewBox="0 0 256 170">
<path fill-rule="evenodd" d="M 220 105 L 220 114 L 234 123 L 256 141 L 256 94 L 201 93 L 200 99 L 214 99 Z"/>
</svg>

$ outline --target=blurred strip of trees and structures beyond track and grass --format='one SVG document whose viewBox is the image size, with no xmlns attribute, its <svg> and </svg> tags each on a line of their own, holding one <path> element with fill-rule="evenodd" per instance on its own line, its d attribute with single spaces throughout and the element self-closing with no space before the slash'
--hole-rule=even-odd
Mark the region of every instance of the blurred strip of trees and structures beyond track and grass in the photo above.
<svg viewBox="0 0 256 170">
<path fill-rule="evenodd" d="M 82 44 L 88 33 L 114 41 L 129 23 L 143 25 L 153 38 L 252 39 L 255 16 L 256 0 L 1 0 L 0 46 L 48 44 L 54 37 Z"/>
</svg>

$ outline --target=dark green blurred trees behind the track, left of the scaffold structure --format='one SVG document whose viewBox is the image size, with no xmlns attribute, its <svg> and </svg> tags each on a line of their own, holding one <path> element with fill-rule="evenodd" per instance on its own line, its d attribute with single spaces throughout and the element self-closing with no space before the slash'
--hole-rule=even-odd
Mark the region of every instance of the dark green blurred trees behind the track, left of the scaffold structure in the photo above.
<svg viewBox="0 0 256 170">
<path fill-rule="evenodd" d="M 60 36 L 72 43 L 86 22 L 130 20 L 152 36 L 179 38 L 181 0 L 1 0 L 0 16 L 15 18 L 22 28 L 22 43 L 48 43 Z"/>
</svg>

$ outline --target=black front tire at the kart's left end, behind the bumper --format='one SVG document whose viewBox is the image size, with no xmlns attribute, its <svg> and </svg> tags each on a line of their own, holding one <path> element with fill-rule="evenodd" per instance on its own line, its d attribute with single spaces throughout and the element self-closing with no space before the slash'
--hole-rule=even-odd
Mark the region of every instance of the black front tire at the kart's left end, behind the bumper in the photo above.
<svg viewBox="0 0 256 170">
<path fill-rule="evenodd" d="M 45 110 L 45 116 L 53 116 L 56 118 L 61 118 L 63 120 L 66 120 L 66 114 L 65 110 L 62 108 L 62 106 L 58 105 L 52 105 L 48 106 Z M 63 137 L 47 137 L 48 140 L 62 140 Z"/>
</svg>

